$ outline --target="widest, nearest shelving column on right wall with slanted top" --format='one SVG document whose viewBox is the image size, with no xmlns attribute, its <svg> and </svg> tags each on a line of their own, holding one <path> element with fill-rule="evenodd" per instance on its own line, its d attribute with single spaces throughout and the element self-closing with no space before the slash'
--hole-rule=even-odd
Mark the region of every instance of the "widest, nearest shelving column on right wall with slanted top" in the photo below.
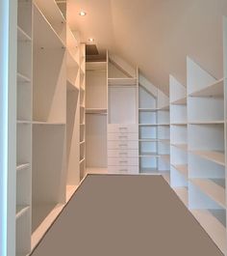
<svg viewBox="0 0 227 256">
<path fill-rule="evenodd" d="M 226 253 L 224 81 L 187 59 L 189 210 Z"/>
</svg>

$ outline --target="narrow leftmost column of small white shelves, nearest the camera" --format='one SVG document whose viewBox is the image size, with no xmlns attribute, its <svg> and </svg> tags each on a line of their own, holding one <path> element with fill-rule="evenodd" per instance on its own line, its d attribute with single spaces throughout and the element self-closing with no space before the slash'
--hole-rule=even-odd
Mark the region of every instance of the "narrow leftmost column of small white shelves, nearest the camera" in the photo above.
<svg viewBox="0 0 227 256">
<path fill-rule="evenodd" d="M 31 250 L 33 4 L 18 0 L 16 126 L 16 255 Z"/>
</svg>

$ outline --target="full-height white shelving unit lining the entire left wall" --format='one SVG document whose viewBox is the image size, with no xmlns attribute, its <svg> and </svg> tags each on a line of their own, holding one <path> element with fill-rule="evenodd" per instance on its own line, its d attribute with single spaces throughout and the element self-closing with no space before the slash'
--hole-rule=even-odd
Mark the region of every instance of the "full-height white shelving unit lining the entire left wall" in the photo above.
<svg viewBox="0 0 227 256">
<path fill-rule="evenodd" d="M 65 17 L 62 1 L 18 0 L 15 237 L 19 256 L 28 255 L 38 244 L 80 183 L 85 45 Z"/>
</svg>

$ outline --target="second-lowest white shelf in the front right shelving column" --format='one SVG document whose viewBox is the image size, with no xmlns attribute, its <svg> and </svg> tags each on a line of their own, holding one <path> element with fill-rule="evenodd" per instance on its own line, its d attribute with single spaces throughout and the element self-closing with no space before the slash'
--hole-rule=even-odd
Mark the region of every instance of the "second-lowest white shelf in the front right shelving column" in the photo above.
<svg viewBox="0 0 227 256">
<path fill-rule="evenodd" d="M 205 194 L 211 197 L 221 207 L 226 207 L 224 187 L 215 184 L 209 179 L 190 179 L 190 182 L 198 186 Z"/>
</svg>

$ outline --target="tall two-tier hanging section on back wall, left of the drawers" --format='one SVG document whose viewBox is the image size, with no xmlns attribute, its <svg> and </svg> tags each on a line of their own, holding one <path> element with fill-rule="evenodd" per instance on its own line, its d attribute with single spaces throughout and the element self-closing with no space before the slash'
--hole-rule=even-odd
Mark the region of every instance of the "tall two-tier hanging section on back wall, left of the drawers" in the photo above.
<svg viewBox="0 0 227 256">
<path fill-rule="evenodd" d="M 107 56 L 102 61 L 86 62 L 85 174 L 107 173 Z"/>
</svg>

